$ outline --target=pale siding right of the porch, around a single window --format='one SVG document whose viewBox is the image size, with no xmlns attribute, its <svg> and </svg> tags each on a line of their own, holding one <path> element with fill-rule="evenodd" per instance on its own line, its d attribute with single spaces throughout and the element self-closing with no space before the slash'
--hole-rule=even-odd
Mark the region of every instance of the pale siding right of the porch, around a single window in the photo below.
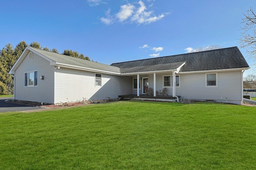
<svg viewBox="0 0 256 170">
<path fill-rule="evenodd" d="M 176 88 L 176 95 L 194 100 L 241 102 L 242 78 L 241 71 L 218 72 L 215 88 L 206 87 L 205 73 L 182 74 L 180 88 Z"/>
</svg>

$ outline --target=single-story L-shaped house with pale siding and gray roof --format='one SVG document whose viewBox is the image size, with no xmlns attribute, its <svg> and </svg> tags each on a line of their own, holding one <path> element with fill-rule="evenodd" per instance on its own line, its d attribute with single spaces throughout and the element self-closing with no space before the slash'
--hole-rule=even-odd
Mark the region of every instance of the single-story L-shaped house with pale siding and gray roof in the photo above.
<svg viewBox="0 0 256 170">
<path fill-rule="evenodd" d="M 14 99 L 43 103 L 140 96 L 169 96 L 241 105 L 243 72 L 250 67 L 238 47 L 113 63 L 86 61 L 26 47 L 9 74 Z"/>
</svg>

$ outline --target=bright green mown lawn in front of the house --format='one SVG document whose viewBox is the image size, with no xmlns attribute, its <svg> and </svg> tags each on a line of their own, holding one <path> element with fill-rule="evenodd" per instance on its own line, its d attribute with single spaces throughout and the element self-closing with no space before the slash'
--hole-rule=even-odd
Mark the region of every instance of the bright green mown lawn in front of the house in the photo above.
<svg viewBox="0 0 256 170">
<path fill-rule="evenodd" d="M 1 169 L 256 169 L 256 107 L 114 102 L 0 114 Z"/>
</svg>

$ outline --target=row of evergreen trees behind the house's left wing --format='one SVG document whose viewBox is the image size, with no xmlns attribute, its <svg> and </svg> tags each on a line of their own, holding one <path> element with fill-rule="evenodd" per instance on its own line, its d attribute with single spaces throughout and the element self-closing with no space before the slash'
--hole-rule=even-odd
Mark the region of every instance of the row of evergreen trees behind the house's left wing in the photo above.
<svg viewBox="0 0 256 170">
<path fill-rule="evenodd" d="M 5 45 L 5 47 L 0 50 L 0 94 L 13 94 L 14 79 L 12 75 L 8 74 L 8 72 L 27 46 L 53 53 L 59 53 L 59 51 L 55 48 L 48 49 L 47 47 L 42 47 L 40 43 L 34 41 L 29 45 L 25 41 L 20 41 L 15 48 L 10 43 Z M 71 49 L 65 49 L 61 54 L 90 61 L 88 56 L 79 54 L 77 51 L 72 51 Z"/>
</svg>

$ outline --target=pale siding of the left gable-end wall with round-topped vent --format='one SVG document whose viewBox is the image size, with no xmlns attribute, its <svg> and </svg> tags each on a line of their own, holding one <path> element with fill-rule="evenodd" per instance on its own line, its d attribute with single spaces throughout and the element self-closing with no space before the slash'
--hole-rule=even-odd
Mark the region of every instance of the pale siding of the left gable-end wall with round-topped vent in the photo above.
<svg viewBox="0 0 256 170">
<path fill-rule="evenodd" d="M 38 71 L 37 86 L 25 86 L 26 72 Z M 15 71 L 15 99 L 43 103 L 54 103 L 54 66 L 50 62 L 33 53 L 33 58 L 28 55 Z M 44 75 L 44 80 L 40 76 Z"/>
</svg>

